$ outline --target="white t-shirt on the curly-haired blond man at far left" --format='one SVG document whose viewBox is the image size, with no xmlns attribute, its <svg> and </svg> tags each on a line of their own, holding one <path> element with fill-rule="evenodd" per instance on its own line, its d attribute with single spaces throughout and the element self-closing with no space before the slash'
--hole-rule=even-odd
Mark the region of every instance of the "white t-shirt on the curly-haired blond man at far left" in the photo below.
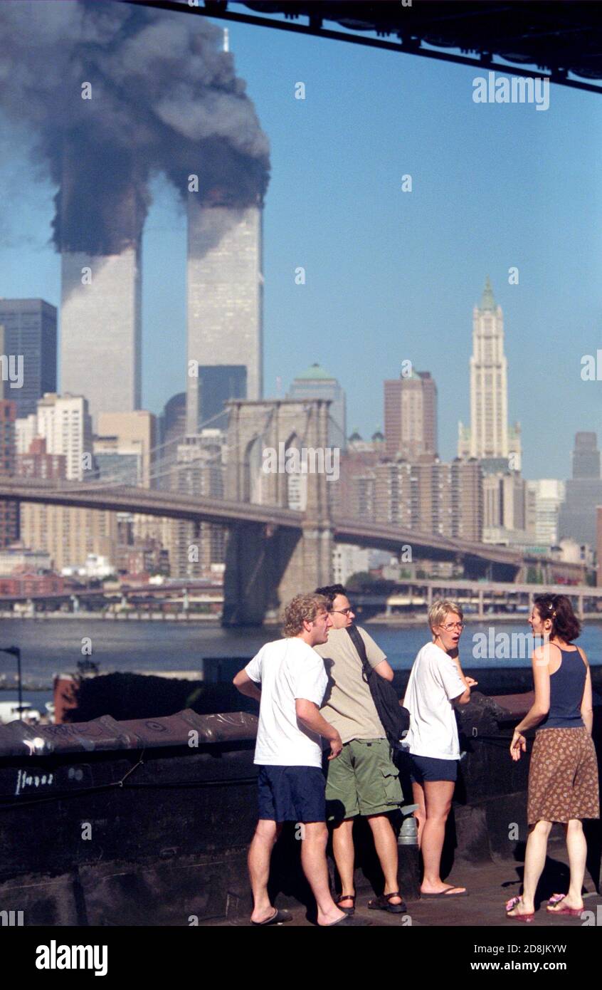
<svg viewBox="0 0 602 990">
<path fill-rule="evenodd" d="M 297 637 L 262 646 L 244 668 L 261 684 L 255 763 L 268 766 L 321 766 L 317 733 L 297 719 L 295 701 L 304 698 L 319 708 L 328 678 L 324 661 Z"/>
</svg>

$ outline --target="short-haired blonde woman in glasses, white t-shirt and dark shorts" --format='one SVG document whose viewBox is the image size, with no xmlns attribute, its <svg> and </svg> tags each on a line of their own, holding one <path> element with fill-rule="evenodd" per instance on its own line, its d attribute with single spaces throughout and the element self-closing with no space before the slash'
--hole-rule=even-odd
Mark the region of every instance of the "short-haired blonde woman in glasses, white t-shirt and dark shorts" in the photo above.
<svg viewBox="0 0 602 990">
<path fill-rule="evenodd" d="M 403 741 L 409 750 L 414 812 L 424 874 L 421 897 L 466 896 L 466 887 L 441 879 L 445 825 L 458 776 L 460 743 L 454 704 L 467 705 L 476 681 L 465 677 L 459 643 L 464 629 L 462 609 L 455 602 L 433 602 L 428 613 L 432 642 L 422 646 L 412 666 L 404 706 L 409 730 Z"/>
</svg>

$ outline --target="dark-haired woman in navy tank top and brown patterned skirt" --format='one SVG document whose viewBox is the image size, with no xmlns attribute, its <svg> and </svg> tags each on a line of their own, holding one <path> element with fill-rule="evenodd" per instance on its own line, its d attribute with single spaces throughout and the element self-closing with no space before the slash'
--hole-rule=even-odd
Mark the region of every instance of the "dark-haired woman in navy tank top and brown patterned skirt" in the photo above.
<svg viewBox="0 0 602 990">
<path fill-rule="evenodd" d="M 533 921 L 553 822 L 564 826 L 570 882 L 565 894 L 550 898 L 547 910 L 581 914 L 587 853 L 581 820 L 600 817 L 598 764 L 591 739 L 591 675 L 584 651 L 572 645 L 581 632 L 579 621 L 566 595 L 539 595 L 529 622 L 544 644 L 532 657 L 535 701 L 510 744 L 512 759 L 520 759 L 527 750 L 522 734 L 538 726 L 529 767 L 523 894 L 506 904 L 506 917 L 521 922 Z"/>
</svg>

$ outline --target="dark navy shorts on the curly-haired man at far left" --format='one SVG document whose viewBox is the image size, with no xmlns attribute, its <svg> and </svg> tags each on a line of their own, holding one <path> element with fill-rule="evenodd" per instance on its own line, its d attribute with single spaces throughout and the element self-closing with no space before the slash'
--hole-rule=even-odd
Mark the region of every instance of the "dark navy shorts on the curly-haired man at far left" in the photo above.
<svg viewBox="0 0 602 990">
<path fill-rule="evenodd" d="M 318 766 L 261 766 L 259 818 L 271 822 L 325 822 L 326 781 Z"/>
</svg>

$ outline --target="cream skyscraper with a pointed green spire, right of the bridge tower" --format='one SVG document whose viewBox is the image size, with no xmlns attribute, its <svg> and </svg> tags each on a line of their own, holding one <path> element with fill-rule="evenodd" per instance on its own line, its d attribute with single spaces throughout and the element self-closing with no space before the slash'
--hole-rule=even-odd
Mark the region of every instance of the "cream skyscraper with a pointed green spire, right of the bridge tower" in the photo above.
<svg viewBox="0 0 602 990">
<path fill-rule="evenodd" d="M 459 424 L 461 457 L 504 459 L 520 470 L 520 427 L 508 426 L 508 363 L 504 354 L 501 306 L 495 305 L 487 276 L 480 306 L 473 309 L 471 356 L 471 426 Z"/>
</svg>

